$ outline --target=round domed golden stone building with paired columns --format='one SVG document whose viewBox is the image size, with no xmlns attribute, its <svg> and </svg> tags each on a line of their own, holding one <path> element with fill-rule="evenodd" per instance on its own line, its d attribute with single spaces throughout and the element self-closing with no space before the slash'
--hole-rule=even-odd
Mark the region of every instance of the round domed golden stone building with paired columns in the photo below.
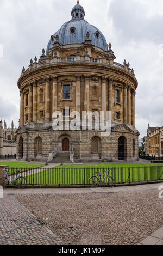
<svg viewBox="0 0 163 256">
<path fill-rule="evenodd" d="M 65 10 L 66 11 L 66 10 Z M 111 44 L 102 32 L 85 21 L 78 3 L 71 20 L 50 36 L 39 60 L 30 60 L 18 80 L 21 96 L 20 127 L 17 130 L 18 159 L 49 157 L 53 162 L 115 161 L 138 159 L 135 128 L 134 70 L 124 60 L 115 62 Z M 101 131 L 54 131 L 53 113 L 65 107 L 70 112 L 111 111 L 111 135 Z"/>
</svg>

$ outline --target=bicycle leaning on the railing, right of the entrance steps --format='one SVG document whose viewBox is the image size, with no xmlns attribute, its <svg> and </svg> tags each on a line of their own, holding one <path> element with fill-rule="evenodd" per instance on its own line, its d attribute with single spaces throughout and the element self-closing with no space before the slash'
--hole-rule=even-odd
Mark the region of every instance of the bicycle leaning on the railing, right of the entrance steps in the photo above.
<svg viewBox="0 0 163 256">
<path fill-rule="evenodd" d="M 100 173 L 100 172 L 96 172 L 98 174 L 98 176 L 91 176 L 89 178 L 89 185 L 90 187 L 98 187 L 99 184 L 102 184 L 104 182 L 104 180 L 107 178 L 107 184 L 110 187 L 114 187 L 114 179 L 109 176 L 108 172 L 110 172 L 111 170 L 107 170 L 104 172 L 104 174 Z M 102 176 L 104 176 L 104 178 L 102 179 Z"/>
</svg>

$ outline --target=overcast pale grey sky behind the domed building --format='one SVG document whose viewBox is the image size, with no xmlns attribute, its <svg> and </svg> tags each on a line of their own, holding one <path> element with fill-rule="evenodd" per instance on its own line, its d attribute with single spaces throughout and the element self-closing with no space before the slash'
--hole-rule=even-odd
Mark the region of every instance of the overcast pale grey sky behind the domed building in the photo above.
<svg viewBox="0 0 163 256">
<path fill-rule="evenodd" d="M 40 57 L 49 38 L 70 20 L 76 0 L 0 0 L 0 119 L 18 125 L 17 80 L 31 58 Z M 80 0 L 85 20 L 98 27 L 139 81 L 136 127 L 141 137 L 148 123 L 163 126 L 163 1 Z"/>
</svg>

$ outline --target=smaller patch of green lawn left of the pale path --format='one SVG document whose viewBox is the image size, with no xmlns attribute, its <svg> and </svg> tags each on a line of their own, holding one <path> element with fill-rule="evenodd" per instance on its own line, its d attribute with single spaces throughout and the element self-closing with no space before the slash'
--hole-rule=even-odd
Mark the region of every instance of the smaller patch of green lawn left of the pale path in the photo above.
<svg viewBox="0 0 163 256">
<path fill-rule="evenodd" d="M 9 166 L 9 173 L 14 173 L 16 170 L 21 170 L 22 172 L 28 169 L 34 169 L 37 167 L 43 167 L 42 164 L 32 164 L 28 162 L 0 162 L 1 166 Z"/>
</svg>

